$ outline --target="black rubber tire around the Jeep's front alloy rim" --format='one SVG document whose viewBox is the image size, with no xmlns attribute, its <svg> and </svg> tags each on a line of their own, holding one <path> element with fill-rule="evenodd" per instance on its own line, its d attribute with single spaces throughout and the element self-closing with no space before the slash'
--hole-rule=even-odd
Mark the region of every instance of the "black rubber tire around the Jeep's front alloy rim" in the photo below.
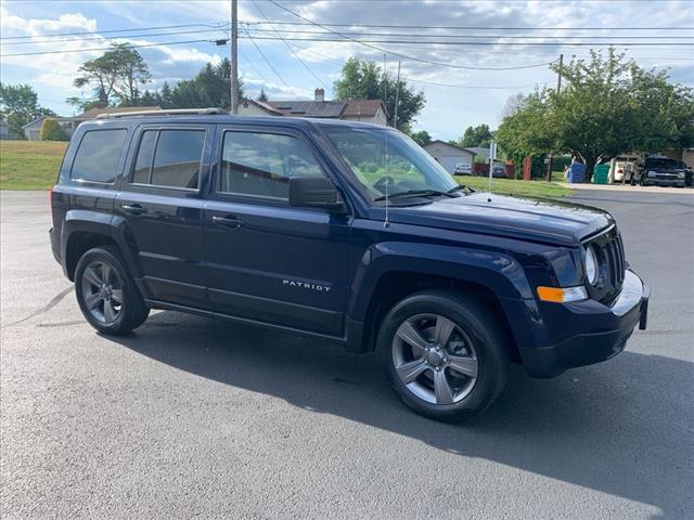
<svg viewBox="0 0 694 520">
<path fill-rule="evenodd" d="M 466 391 L 454 389 L 451 395 L 453 399 L 460 399 L 460 401 L 452 402 L 452 404 L 432 403 L 427 400 L 430 399 L 430 396 L 422 398 L 416 391 L 411 390 L 412 385 L 406 385 L 398 375 L 396 350 L 399 347 L 397 346 L 398 343 L 407 344 L 407 342 L 401 342 L 400 337 L 396 338 L 396 334 L 404 322 L 410 323 L 409 321 L 414 318 L 414 323 L 416 323 L 417 317 L 422 315 L 444 316 L 458 327 L 455 329 L 458 332 L 452 334 L 452 338 L 455 338 L 457 335 L 459 338 L 465 336 L 466 339 L 462 341 L 462 344 L 465 344 L 465 341 L 468 340 L 474 346 L 477 362 L 476 378 L 475 380 L 473 380 L 472 377 L 470 378 L 472 387 Z M 501 332 L 499 323 L 492 318 L 492 311 L 480 300 L 452 290 L 417 292 L 397 303 L 381 324 L 376 339 L 376 353 L 382 368 L 398 398 L 417 414 L 437 420 L 451 421 L 466 419 L 486 410 L 499 396 L 509 378 L 509 356 L 505 349 L 506 338 Z M 426 326 L 426 318 L 420 323 Z M 430 328 L 428 330 L 430 332 Z M 462 333 L 462 335 L 460 333 Z M 434 333 L 434 335 L 436 335 L 436 333 Z M 430 344 L 434 343 L 436 343 L 436 341 Z M 452 344 L 452 341 L 449 343 L 449 347 L 442 349 L 448 351 L 446 355 L 449 355 L 451 352 L 450 344 Z M 427 352 L 430 352 L 430 350 L 429 348 Z M 412 349 L 412 352 L 414 352 L 414 349 Z M 425 354 L 425 356 L 429 354 Z M 422 359 L 425 359 L 425 356 L 422 356 Z M 413 355 L 412 362 L 417 361 L 415 358 L 416 356 Z M 450 355 L 450 359 L 455 358 Z M 429 358 L 426 358 L 426 360 L 427 363 L 425 364 L 433 366 L 428 363 Z M 445 361 L 447 361 L 446 358 L 444 359 L 444 362 Z M 402 368 L 404 364 L 400 364 L 399 366 Z M 460 374 L 457 375 L 455 372 L 451 375 L 450 366 L 444 364 L 438 366 L 437 372 L 439 372 L 439 369 L 441 374 L 444 374 L 445 380 L 450 381 L 451 377 L 458 378 L 458 380 L 465 380 L 465 377 Z M 427 382 L 430 382 L 432 387 L 435 387 L 434 380 L 438 376 L 433 369 L 432 374 L 434 377 L 428 378 L 428 372 L 424 372 L 421 376 L 417 376 L 416 380 L 412 381 L 417 387 L 417 390 L 420 386 L 425 388 Z M 455 398 L 457 391 L 459 392 L 459 398 Z M 435 390 L 432 390 L 432 392 L 436 393 Z M 435 395 L 434 399 L 438 401 L 438 395 Z"/>
</svg>

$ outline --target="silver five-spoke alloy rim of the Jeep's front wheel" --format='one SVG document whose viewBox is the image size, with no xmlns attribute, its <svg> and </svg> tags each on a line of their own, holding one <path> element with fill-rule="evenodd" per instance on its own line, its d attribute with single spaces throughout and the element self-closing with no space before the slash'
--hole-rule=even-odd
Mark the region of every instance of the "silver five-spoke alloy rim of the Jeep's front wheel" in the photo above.
<svg viewBox="0 0 694 520">
<path fill-rule="evenodd" d="M 439 314 L 417 314 L 393 338 L 393 362 L 400 380 L 432 404 L 455 404 L 477 381 L 477 352 L 470 337 Z"/>
</svg>

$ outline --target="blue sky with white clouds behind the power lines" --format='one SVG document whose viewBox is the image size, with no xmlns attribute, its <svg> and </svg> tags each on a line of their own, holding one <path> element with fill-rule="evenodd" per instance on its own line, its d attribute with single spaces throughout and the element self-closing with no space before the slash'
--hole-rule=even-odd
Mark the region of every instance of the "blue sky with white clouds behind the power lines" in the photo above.
<svg viewBox="0 0 694 520">
<path fill-rule="evenodd" d="M 595 41 L 597 36 L 622 36 L 625 34 L 656 37 L 666 41 L 671 36 L 694 36 L 693 3 L 678 1 L 558 1 L 558 0 L 278 0 L 278 3 L 295 11 L 310 21 L 321 24 L 372 24 L 415 26 L 465 26 L 458 34 L 498 36 L 494 46 L 428 46 L 412 42 L 403 44 L 372 43 L 387 51 L 404 54 L 417 60 L 448 64 L 449 66 L 402 60 L 402 77 L 409 84 L 424 91 L 427 103 L 414 125 L 426 129 L 437 139 L 458 138 L 468 125 L 499 123 L 506 100 L 518 92 L 530 92 L 536 86 L 554 86 L 556 75 L 547 66 L 512 70 L 476 70 L 462 67 L 518 67 L 556 60 L 560 53 L 565 58 L 584 56 L 587 47 L 568 47 L 570 43 Z M 39 94 L 42 105 L 62 115 L 74 108 L 64 100 L 81 95 L 72 86 L 77 69 L 86 60 L 99 56 L 119 32 L 132 44 L 157 44 L 140 49 L 153 76 L 150 89 L 159 88 L 164 81 L 175 83 L 194 76 L 200 67 L 210 61 L 229 55 L 228 47 L 211 42 L 181 43 L 188 40 L 214 40 L 224 38 L 228 23 L 228 0 L 90 0 L 44 1 L 2 0 L 0 24 L 2 29 L 2 61 L 0 74 L 7 83 L 29 83 Z M 284 23 L 303 22 L 268 0 L 241 0 L 239 17 L 242 22 L 266 22 L 266 18 Z M 200 24 L 191 27 L 145 29 L 183 24 Z M 258 26 L 255 26 L 258 27 Z M 317 26 L 277 25 L 284 30 L 316 30 Z M 480 27 L 526 27 L 523 31 L 479 29 Z M 554 30 L 537 30 L 530 27 L 548 27 Z M 687 30 L 629 30 L 616 27 L 681 27 Z M 274 36 L 270 27 L 266 36 Z M 568 30 L 579 28 L 581 30 Z M 144 30 L 137 30 L 144 29 Z M 357 39 L 394 39 L 387 34 L 419 34 L 436 41 L 436 35 L 450 35 L 442 29 L 393 29 L 333 27 L 339 31 L 360 31 Z M 47 42 L 42 35 L 64 32 L 89 32 L 55 38 Z M 177 34 L 171 34 L 177 32 Z M 243 30 L 242 30 L 243 32 Z M 248 95 L 257 95 L 264 88 L 271 100 L 311 99 L 313 89 L 326 87 L 326 99 L 332 96 L 332 83 L 338 77 L 340 63 L 349 56 L 374 60 L 383 63 L 384 55 L 367 44 L 346 40 L 344 42 L 297 42 L 286 44 L 278 40 L 244 38 L 240 42 L 239 68 Z M 306 38 L 308 35 L 283 32 L 286 36 Z M 545 43 L 529 46 L 510 41 L 510 35 L 532 36 L 525 40 Z M 27 37 L 12 39 L 14 37 Z M 312 35 L 311 35 L 312 36 Z M 579 37 L 579 38 L 571 38 Z M 582 40 L 581 40 L 582 38 Z M 402 39 L 402 38 L 400 38 Z M 412 40 L 412 36 L 408 36 Z M 62 41 L 56 41 L 62 40 Z M 439 38 L 440 40 L 440 38 Z M 561 47 L 561 41 L 567 47 Z M 470 41 L 470 40 L 466 40 Z M 487 40 L 488 41 L 488 40 Z M 606 41 L 606 40 L 603 40 Z M 614 40 L 613 40 L 614 41 Z M 619 43 L 619 39 L 616 41 Z M 648 42 L 648 40 L 640 40 Z M 625 48 L 629 56 L 646 67 L 669 68 L 672 80 L 694 86 L 694 40 L 672 47 Z M 166 44 L 164 44 L 166 43 Z M 257 48 L 256 48 L 257 46 Z M 292 49 L 287 49 L 287 46 Z M 78 51 L 61 52 L 54 51 Z M 11 54 L 39 53 L 12 56 Z M 52 53 L 49 53 L 52 52 Z M 265 55 L 265 58 L 262 57 Z M 297 60 L 300 56 L 304 64 Z M 267 62 L 266 62 L 267 60 Z M 388 70 L 395 75 L 398 56 L 387 56 Z M 269 62 L 269 64 L 268 64 Z M 452 65 L 452 66 L 451 66 Z M 320 81 L 319 81 L 320 80 Z M 440 84 L 434 84 L 440 83 Z M 444 84 L 444 86 L 441 86 Z M 454 87 L 449 87 L 454 86 Z M 83 92 L 87 94 L 88 92 Z"/>
</svg>

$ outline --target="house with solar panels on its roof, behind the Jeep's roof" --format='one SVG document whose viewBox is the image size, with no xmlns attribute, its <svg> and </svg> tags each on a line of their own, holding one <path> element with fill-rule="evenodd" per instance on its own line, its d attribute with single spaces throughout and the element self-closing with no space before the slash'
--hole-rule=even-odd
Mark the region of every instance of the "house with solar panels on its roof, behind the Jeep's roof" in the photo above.
<svg viewBox="0 0 694 520">
<path fill-rule="evenodd" d="M 387 110 L 382 100 L 325 101 L 325 91 L 316 89 L 313 101 L 244 100 L 239 114 L 244 116 L 290 116 L 343 119 L 387 125 Z"/>
</svg>

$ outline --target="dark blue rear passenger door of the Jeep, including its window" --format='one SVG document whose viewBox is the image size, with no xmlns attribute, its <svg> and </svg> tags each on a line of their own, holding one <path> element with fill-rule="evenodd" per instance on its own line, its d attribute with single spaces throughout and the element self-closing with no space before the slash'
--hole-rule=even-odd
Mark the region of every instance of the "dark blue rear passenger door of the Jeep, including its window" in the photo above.
<svg viewBox="0 0 694 520">
<path fill-rule="evenodd" d="M 145 125 L 134 135 L 114 209 L 150 299 L 208 308 L 201 187 L 214 132 L 214 125 Z"/>
</svg>

